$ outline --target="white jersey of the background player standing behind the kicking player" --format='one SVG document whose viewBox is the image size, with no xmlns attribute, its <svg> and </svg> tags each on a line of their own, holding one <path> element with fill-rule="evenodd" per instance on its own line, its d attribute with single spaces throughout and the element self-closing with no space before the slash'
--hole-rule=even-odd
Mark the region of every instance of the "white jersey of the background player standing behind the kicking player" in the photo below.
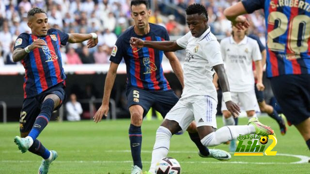
<svg viewBox="0 0 310 174">
<path fill-rule="evenodd" d="M 230 91 L 247 92 L 254 88 L 252 61 L 262 60 L 258 43 L 247 36 L 236 43 L 233 37 L 220 43 Z"/>
</svg>

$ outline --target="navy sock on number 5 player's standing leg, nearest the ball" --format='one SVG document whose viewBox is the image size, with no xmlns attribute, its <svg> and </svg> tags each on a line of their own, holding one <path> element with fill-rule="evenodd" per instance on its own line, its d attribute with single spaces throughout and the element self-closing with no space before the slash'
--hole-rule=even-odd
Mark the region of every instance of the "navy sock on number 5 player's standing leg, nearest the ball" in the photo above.
<svg viewBox="0 0 310 174">
<path fill-rule="evenodd" d="M 142 144 L 142 132 L 141 126 L 135 126 L 130 124 L 129 127 L 129 140 L 131 148 L 132 160 L 134 160 L 134 165 L 137 165 L 142 169 L 141 161 L 141 144 Z"/>
</svg>

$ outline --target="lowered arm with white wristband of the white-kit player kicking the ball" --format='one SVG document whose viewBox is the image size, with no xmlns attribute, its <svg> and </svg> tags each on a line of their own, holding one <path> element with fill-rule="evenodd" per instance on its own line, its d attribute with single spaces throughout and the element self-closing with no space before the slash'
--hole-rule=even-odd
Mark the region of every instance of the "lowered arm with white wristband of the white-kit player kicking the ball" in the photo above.
<svg viewBox="0 0 310 174">
<path fill-rule="evenodd" d="M 227 75 L 225 73 L 224 64 L 216 65 L 213 68 L 215 72 L 217 73 L 219 85 L 221 86 L 222 91 L 223 91 L 223 98 L 224 98 L 226 107 L 228 111 L 230 111 L 232 115 L 236 117 L 240 113 L 240 107 L 232 101 L 232 98 L 230 96 L 229 83 L 228 83 Z M 225 95 L 225 94 L 229 94 L 229 95 Z"/>
</svg>

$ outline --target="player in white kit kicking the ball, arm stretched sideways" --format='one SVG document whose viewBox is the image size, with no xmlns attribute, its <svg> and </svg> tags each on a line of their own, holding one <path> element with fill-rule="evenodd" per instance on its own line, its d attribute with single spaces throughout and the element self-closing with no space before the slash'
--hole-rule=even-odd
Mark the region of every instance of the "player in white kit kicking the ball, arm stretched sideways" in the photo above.
<svg viewBox="0 0 310 174">
<path fill-rule="evenodd" d="M 201 4 L 192 4 L 187 7 L 186 14 L 186 23 L 190 32 L 177 41 L 152 42 L 139 38 L 130 40 L 133 47 L 139 48 L 145 46 L 163 51 L 186 49 L 183 94 L 157 129 L 151 167 L 146 174 L 155 173 L 156 163 L 167 157 L 171 136 L 178 131 L 186 131 L 193 120 L 196 121 L 202 145 L 205 146 L 220 145 L 236 139 L 240 134 L 274 134 L 272 129 L 255 118 L 250 119 L 248 125 L 225 126 L 215 131 L 217 129 L 217 91 L 212 83 L 213 69 L 218 74 L 228 110 L 237 116 L 240 108 L 231 99 L 220 45 L 208 26 L 205 7 Z"/>
</svg>

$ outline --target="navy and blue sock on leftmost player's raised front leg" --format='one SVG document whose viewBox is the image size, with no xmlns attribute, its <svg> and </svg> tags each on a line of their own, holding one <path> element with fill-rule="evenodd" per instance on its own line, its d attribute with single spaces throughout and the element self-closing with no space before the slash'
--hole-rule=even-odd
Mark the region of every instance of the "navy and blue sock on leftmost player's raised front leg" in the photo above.
<svg viewBox="0 0 310 174">
<path fill-rule="evenodd" d="M 54 101 L 52 99 L 47 99 L 42 103 L 41 112 L 39 116 L 34 121 L 33 127 L 29 132 L 28 136 L 34 141 L 41 131 L 47 126 L 47 123 L 54 111 Z"/>
</svg>

